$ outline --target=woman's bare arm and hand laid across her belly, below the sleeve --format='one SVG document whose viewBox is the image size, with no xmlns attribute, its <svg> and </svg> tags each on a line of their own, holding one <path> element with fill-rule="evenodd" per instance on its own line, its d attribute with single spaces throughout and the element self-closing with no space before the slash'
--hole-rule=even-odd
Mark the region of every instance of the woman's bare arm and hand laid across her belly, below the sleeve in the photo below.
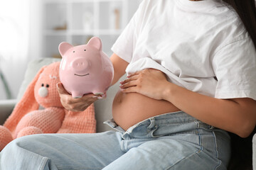
<svg viewBox="0 0 256 170">
<path fill-rule="evenodd" d="M 121 84 L 124 93 L 137 92 L 169 101 L 194 118 L 240 137 L 247 137 L 255 128 L 256 101 L 251 98 L 219 99 L 204 96 L 170 83 L 162 72 L 155 69 L 129 75 Z"/>
</svg>

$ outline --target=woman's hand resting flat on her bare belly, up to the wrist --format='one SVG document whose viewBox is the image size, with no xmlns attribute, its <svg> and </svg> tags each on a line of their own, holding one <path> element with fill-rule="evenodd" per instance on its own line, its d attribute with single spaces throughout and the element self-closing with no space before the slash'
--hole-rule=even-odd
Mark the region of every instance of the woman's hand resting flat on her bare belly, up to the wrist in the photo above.
<svg viewBox="0 0 256 170">
<path fill-rule="evenodd" d="M 127 76 L 120 82 L 123 93 L 136 92 L 157 100 L 164 99 L 165 89 L 169 84 L 163 72 L 157 69 L 144 69 Z"/>
</svg>

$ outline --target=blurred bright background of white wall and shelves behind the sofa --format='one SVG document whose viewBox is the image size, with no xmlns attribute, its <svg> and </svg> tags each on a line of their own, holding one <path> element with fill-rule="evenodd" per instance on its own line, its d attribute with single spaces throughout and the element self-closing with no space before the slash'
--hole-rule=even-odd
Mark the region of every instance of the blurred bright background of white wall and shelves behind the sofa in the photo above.
<svg viewBox="0 0 256 170">
<path fill-rule="evenodd" d="M 60 42 L 98 36 L 110 56 L 141 1 L 0 0 L 0 100 L 16 98 L 29 61 L 60 57 Z"/>
</svg>

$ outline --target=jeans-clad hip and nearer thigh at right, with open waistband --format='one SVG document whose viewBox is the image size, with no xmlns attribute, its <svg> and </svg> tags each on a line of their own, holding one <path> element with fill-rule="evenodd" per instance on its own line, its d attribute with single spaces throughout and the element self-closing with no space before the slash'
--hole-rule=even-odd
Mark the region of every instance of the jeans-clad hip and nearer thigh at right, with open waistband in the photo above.
<svg viewBox="0 0 256 170">
<path fill-rule="evenodd" d="M 105 167 L 118 169 L 219 169 L 230 157 L 230 137 L 186 113 L 159 115 L 129 128 L 120 146 L 125 154 Z"/>
</svg>

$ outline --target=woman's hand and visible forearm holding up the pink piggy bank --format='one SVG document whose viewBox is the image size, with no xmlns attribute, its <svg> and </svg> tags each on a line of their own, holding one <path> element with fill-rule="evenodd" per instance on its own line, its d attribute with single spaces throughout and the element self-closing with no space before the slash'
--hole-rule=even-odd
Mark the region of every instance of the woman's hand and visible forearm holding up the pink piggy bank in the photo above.
<svg viewBox="0 0 256 170">
<path fill-rule="evenodd" d="M 129 63 L 122 60 L 116 54 L 113 54 L 110 57 L 110 60 L 112 61 L 114 67 L 114 78 L 111 84 L 113 85 L 120 79 L 120 77 L 122 77 L 122 75 L 124 75 L 125 69 Z M 98 99 L 98 96 L 95 96 L 94 94 L 85 94 L 81 98 L 73 98 L 70 94 L 68 94 L 68 91 L 64 89 L 63 84 L 61 83 L 57 84 L 57 89 L 63 107 L 70 111 L 85 111 L 85 109 L 90 106 L 91 103 L 97 101 Z"/>
</svg>

